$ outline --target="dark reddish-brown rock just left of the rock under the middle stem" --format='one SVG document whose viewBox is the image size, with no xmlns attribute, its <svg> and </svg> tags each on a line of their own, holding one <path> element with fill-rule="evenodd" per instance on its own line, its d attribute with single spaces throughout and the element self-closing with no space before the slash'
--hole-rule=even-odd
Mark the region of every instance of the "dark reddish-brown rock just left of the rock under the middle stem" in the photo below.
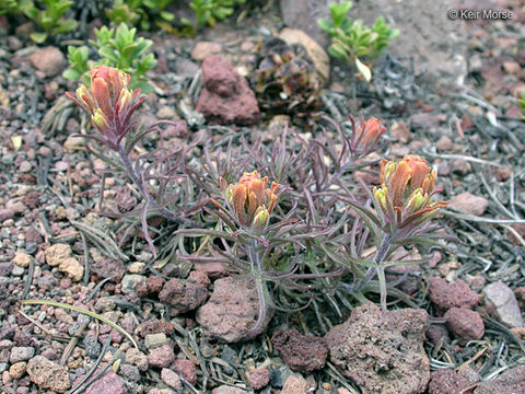
<svg viewBox="0 0 525 394">
<path fill-rule="evenodd" d="M 178 278 L 170 279 L 159 293 L 159 300 L 173 306 L 175 314 L 197 309 L 205 303 L 207 298 L 208 290 L 206 287 L 191 280 Z"/>
</svg>

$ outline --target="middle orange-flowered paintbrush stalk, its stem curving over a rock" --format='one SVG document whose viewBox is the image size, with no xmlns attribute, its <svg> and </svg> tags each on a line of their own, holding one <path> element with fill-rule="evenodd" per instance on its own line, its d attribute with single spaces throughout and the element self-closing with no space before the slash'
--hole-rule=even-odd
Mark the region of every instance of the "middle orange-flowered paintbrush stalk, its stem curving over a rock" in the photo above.
<svg viewBox="0 0 525 394">
<path fill-rule="evenodd" d="M 305 268 L 308 258 L 304 251 L 308 251 L 311 239 L 318 235 L 318 232 L 314 233 L 306 223 L 293 218 L 293 206 L 289 210 L 281 209 L 278 200 L 288 189 L 285 186 L 275 182 L 269 185 L 267 176 L 260 177 L 257 171 L 253 171 L 244 173 L 232 184 L 220 177 L 219 189 L 223 202 L 212 200 L 219 208 L 212 211 L 220 218 L 215 228 L 182 229 L 175 234 L 206 235 L 220 243 L 208 242 L 210 256 L 179 255 L 179 258 L 195 263 L 221 262 L 232 273 L 253 280 L 258 308 L 255 322 L 246 335 L 256 336 L 261 333 L 275 309 L 292 312 L 310 304 L 306 302 L 299 308 L 280 308 L 276 304 L 277 298 L 272 297 L 272 292 L 282 290 L 291 294 L 298 291 L 299 297 L 304 297 L 307 290 L 318 286 L 311 281 L 339 276 L 341 271 L 328 273 L 320 266 Z M 203 247 L 199 246 L 199 250 L 203 251 Z M 300 280 L 308 282 L 299 283 Z"/>
</svg>

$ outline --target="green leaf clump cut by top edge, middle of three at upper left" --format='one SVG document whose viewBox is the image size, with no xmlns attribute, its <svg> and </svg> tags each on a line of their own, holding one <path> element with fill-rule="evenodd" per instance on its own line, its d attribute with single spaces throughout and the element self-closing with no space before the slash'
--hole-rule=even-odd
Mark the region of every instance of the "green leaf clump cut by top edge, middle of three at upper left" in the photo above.
<svg viewBox="0 0 525 394">
<path fill-rule="evenodd" d="M 133 26 L 140 24 L 140 28 L 148 31 L 155 25 L 165 31 L 171 31 L 171 23 L 175 20 L 166 7 L 173 0 L 115 0 L 113 8 L 106 10 L 107 18 L 119 25 L 125 23 Z"/>
</svg>

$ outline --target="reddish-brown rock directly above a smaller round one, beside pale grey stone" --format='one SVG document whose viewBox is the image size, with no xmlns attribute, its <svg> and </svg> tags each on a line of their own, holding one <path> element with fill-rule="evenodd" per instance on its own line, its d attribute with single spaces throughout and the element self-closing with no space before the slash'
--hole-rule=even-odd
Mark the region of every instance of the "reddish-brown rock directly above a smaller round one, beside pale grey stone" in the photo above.
<svg viewBox="0 0 525 394">
<path fill-rule="evenodd" d="M 447 283 L 442 278 L 432 278 L 429 292 L 432 302 L 442 311 L 460 306 L 472 309 L 477 305 L 479 299 L 478 294 L 470 290 L 462 279 L 454 283 Z"/>
</svg>

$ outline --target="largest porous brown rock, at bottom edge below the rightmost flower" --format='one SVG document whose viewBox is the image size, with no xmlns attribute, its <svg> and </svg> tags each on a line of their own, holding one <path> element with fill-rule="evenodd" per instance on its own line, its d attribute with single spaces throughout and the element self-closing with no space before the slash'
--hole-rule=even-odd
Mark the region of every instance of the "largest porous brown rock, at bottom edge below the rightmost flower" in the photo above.
<svg viewBox="0 0 525 394">
<path fill-rule="evenodd" d="M 387 311 L 369 302 L 325 337 L 331 362 L 363 393 L 422 393 L 430 380 L 424 310 Z"/>
</svg>

